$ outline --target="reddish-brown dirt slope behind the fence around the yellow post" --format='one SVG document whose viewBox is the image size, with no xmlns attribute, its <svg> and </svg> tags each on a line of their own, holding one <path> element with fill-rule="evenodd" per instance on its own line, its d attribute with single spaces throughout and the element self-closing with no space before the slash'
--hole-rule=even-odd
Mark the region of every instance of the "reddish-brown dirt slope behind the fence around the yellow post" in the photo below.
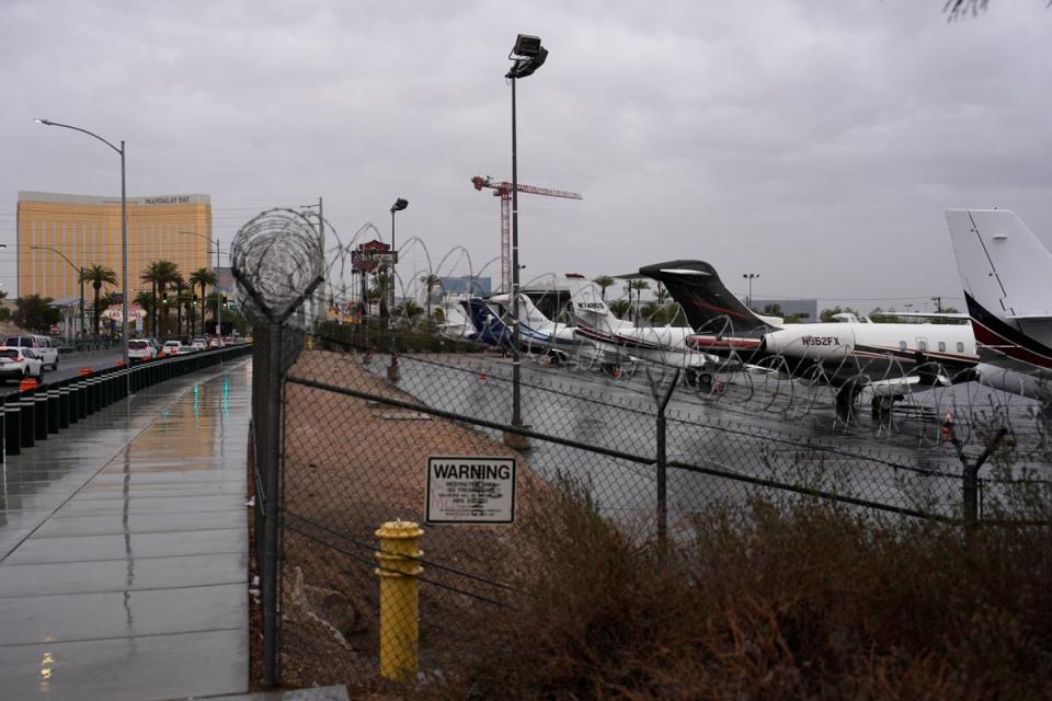
<svg viewBox="0 0 1052 701">
<path fill-rule="evenodd" d="M 419 403 L 369 372 L 359 355 L 305 352 L 290 377 Z M 441 665 L 472 607 L 506 599 L 487 582 L 514 579 L 529 560 L 525 530 L 553 491 L 522 453 L 481 433 L 420 412 L 294 382 L 285 387 L 282 680 L 289 688 L 346 683 L 357 694 L 397 690 L 378 677 L 375 530 L 421 522 L 428 456 L 517 459 L 516 522 L 426 527 L 420 587 L 421 666 Z M 251 519 L 250 519 L 251 520 Z M 464 576 L 456 573 L 468 573 Z M 253 565 L 253 575 L 255 574 Z M 462 594 L 449 587 L 466 591 Z M 474 595 L 474 596 L 471 596 Z M 253 604 L 252 659 L 262 656 L 262 618 Z M 258 682 L 261 669 L 253 668 Z"/>
</svg>

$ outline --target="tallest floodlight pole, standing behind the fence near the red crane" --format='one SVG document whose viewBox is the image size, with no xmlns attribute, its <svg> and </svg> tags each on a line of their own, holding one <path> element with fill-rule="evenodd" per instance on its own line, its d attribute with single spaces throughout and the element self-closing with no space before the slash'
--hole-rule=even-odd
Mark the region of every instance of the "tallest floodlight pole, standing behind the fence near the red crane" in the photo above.
<svg viewBox="0 0 1052 701">
<path fill-rule="evenodd" d="M 523 425 L 522 406 L 522 375 L 519 368 L 518 345 L 522 331 L 518 324 L 518 142 L 516 135 L 515 116 L 515 82 L 519 78 L 533 76 L 548 58 L 548 49 L 540 45 L 540 37 L 519 34 L 515 37 L 515 46 L 507 55 L 512 62 L 511 70 L 504 78 L 512 81 L 512 426 Z M 521 443 L 522 447 L 528 443 L 521 436 L 512 438 L 513 443 Z"/>
</svg>

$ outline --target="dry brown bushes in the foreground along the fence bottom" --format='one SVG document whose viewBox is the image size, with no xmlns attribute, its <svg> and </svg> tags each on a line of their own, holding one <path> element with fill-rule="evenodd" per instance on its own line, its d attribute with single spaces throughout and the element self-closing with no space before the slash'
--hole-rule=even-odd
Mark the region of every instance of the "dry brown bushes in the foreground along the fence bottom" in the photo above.
<svg viewBox="0 0 1052 701">
<path fill-rule="evenodd" d="M 447 699 L 1052 696 L 1045 528 L 880 520 L 828 504 L 698 514 L 640 545 L 570 490 L 516 608 L 418 690 Z"/>
</svg>

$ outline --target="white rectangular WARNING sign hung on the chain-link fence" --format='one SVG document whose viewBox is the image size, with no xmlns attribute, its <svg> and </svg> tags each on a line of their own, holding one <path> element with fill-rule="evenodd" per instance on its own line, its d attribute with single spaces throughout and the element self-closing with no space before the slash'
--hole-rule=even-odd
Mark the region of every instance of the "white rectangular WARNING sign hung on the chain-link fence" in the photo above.
<svg viewBox="0 0 1052 701">
<path fill-rule="evenodd" d="M 515 520 L 515 458 L 431 456 L 426 485 L 428 524 Z"/>
</svg>

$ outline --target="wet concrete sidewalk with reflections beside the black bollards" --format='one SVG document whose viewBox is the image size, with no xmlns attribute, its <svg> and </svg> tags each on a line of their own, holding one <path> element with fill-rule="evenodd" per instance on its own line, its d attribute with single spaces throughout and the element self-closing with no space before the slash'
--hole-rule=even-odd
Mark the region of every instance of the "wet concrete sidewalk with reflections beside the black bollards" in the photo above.
<svg viewBox="0 0 1052 701">
<path fill-rule="evenodd" d="M 145 390 L 0 468 L 0 698 L 248 691 L 251 364 Z"/>
</svg>

